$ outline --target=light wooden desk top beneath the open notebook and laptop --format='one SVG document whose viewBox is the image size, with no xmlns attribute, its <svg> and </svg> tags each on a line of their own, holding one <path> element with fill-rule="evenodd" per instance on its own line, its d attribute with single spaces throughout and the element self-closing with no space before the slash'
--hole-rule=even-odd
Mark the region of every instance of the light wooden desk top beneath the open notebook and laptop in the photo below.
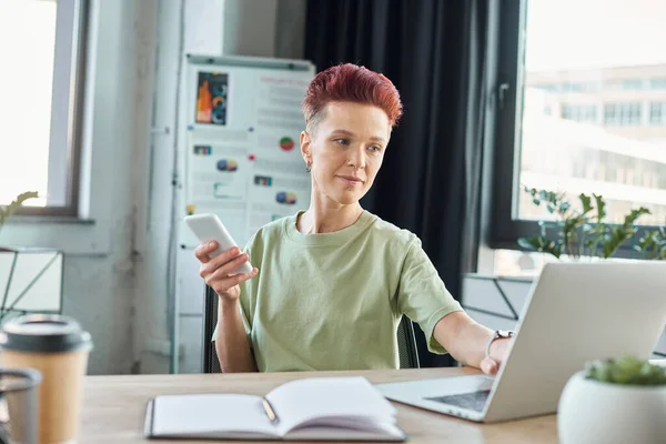
<svg viewBox="0 0 666 444">
<path fill-rule="evenodd" d="M 273 374 L 196 374 L 88 376 L 83 396 L 80 443 L 162 443 L 143 438 L 147 402 L 160 394 L 248 393 L 263 395 L 278 385 L 309 376 L 362 375 L 373 383 L 476 374 L 471 369 L 421 369 L 363 372 Z M 408 443 L 557 443 L 555 415 L 497 424 L 464 420 L 395 403 L 397 422 Z M 179 441 L 210 443 L 210 441 Z"/>
</svg>

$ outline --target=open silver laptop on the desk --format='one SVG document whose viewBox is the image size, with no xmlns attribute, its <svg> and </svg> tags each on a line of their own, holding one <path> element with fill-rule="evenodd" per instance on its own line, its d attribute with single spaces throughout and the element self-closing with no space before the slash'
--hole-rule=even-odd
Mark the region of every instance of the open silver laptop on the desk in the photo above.
<svg viewBox="0 0 666 444">
<path fill-rule="evenodd" d="M 376 386 L 389 400 L 476 422 L 555 413 L 586 362 L 652 356 L 666 324 L 666 261 L 547 263 L 519 319 L 494 377 Z"/>
</svg>

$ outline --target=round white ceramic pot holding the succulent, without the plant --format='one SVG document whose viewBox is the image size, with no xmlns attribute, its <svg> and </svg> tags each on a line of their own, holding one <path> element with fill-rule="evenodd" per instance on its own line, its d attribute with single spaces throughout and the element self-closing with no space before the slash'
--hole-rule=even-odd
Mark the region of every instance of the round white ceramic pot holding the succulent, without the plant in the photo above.
<svg viewBox="0 0 666 444">
<path fill-rule="evenodd" d="M 557 411 L 562 444 L 666 443 L 666 385 L 569 379 Z"/>
</svg>

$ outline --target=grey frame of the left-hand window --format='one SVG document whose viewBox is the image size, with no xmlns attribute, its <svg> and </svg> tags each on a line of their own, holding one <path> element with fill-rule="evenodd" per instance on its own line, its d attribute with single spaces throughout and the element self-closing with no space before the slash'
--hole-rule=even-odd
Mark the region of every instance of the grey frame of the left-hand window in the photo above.
<svg viewBox="0 0 666 444">
<path fill-rule="evenodd" d="M 16 214 L 75 219 L 79 216 L 81 184 L 83 91 L 90 8 L 89 0 L 53 1 L 57 3 L 57 21 L 49 135 L 49 190 L 60 189 L 64 179 L 65 203 L 22 205 Z M 63 22 L 69 27 L 62 26 Z M 63 167 L 64 173 L 61 170 Z"/>
</svg>

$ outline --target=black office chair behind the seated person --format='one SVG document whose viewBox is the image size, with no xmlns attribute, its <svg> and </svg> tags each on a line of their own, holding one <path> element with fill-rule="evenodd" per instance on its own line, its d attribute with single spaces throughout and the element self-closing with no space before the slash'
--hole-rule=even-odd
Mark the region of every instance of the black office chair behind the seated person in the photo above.
<svg viewBox="0 0 666 444">
<path fill-rule="evenodd" d="M 203 303 L 203 372 L 220 373 L 220 361 L 215 346 L 211 341 L 218 324 L 218 295 L 205 285 Z M 414 337 L 414 325 L 407 316 L 403 316 L 397 327 L 397 353 L 401 369 L 418 369 L 418 352 Z"/>
</svg>

